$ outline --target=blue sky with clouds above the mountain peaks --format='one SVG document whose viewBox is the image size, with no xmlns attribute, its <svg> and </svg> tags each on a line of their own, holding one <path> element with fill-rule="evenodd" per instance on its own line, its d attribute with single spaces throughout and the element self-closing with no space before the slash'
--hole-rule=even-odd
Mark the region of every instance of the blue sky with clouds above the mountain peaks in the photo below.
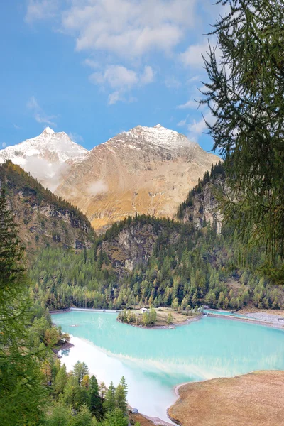
<svg viewBox="0 0 284 426">
<path fill-rule="evenodd" d="M 222 6 L 210 0 L 1 1 L 0 148 L 46 126 L 90 149 L 162 124 L 210 150 L 193 99 Z M 213 41 L 213 40 L 212 40 Z"/>
</svg>

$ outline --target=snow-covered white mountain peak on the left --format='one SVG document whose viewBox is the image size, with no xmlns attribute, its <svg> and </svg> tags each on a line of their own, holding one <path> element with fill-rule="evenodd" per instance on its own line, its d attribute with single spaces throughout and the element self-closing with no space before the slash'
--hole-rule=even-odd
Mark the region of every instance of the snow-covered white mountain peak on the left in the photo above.
<svg viewBox="0 0 284 426">
<path fill-rule="evenodd" d="M 87 153 L 87 149 L 72 142 L 66 133 L 55 133 L 47 127 L 35 138 L 0 150 L 0 164 L 11 160 L 55 191 L 71 165 L 80 163 Z"/>
</svg>

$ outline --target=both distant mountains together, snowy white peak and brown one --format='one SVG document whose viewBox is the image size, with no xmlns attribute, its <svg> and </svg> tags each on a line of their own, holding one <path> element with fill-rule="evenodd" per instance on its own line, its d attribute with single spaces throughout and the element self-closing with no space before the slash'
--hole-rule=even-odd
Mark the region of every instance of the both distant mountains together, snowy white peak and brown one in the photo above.
<svg viewBox="0 0 284 426">
<path fill-rule="evenodd" d="M 219 160 L 160 124 L 136 126 L 91 151 L 47 127 L 1 150 L 0 163 L 6 159 L 80 208 L 99 233 L 136 213 L 175 217 L 188 189 Z"/>
</svg>

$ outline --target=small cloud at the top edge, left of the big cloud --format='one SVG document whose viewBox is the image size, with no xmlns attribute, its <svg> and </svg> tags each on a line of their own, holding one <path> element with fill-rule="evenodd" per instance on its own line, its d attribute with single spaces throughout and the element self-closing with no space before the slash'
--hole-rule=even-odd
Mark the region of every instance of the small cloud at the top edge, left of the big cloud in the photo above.
<svg viewBox="0 0 284 426">
<path fill-rule="evenodd" d="M 53 18 L 58 11 L 58 0 L 28 0 L 26 22 Z"/>
</svg>

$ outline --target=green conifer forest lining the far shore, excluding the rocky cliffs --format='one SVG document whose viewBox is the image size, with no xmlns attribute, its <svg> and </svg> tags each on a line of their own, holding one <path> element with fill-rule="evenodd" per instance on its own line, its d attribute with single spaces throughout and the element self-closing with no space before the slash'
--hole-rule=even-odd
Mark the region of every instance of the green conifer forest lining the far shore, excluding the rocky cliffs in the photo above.
<svg viewBox="0 0 284 426">
<path fill-rule="evenodd" d="M 265 251 L 248 251 L 237 233 L 226 226 L 221 235 L 210 222 L 202 231 L 194 231 L 186 224 L 178 226 L 180 232 L 175 242 L 170 242 L 170 229 L 164 231 L 148 264 L 123 277 L 106 266 L 104 260 L 99 269 L 92 249 L 87 251 L 86 263 L 83 253 L 62 249 L 43 251 L 31 273 L 39 283 L 37 297 L 52 307 L 73 303 L 78 307 L 106 309 L 153 305 L 175 309 L 180 306 L 185 311 L 203 303 L 230 309 L 249 304 L 283 306 L 283 292 L 258 274 L 258 268 L 266 261 Z M 229 295 L 231 282 L 235 284 L 233 294 Z M 220 293 L 224 293 L 224 300 L 222 297 L 219 300 Z M 126 321 L 131 322 L 127 313 Z"/>
</svg>

